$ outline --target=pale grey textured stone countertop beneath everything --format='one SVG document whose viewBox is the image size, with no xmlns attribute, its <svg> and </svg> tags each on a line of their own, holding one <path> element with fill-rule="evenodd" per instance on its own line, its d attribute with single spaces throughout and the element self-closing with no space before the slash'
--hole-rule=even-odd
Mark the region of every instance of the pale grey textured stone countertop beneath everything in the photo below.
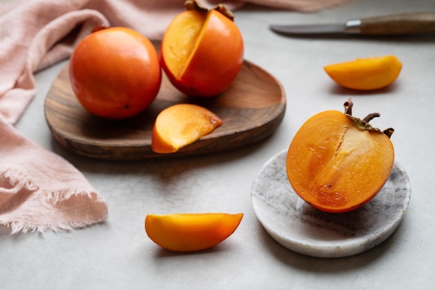
<svg viewBox="0 0 435 290">
<path fill-rule="evenodd" d="M 338 22 L 388 13 L 435 11 L 435 1 L 354 0 L 318 13 L 256 6 L 237 10 L 245 58 L 284 86 L 286 115 L 261 143 L 189 157 L 138 162 L 96 161 L 60 147 L 44 119 L 44 98 L 65 62 L 36 75 L 38 92 L 17 124 L 22 134 L 81 170 L 108 200 L 106 223 L 72 232 L 10 236 L 0 227 L 1 289 L 435 289 L 435 35 L 408 38 L 288 38 L 270 24 Z M 374 92 L 339 88 L 323 66 L 394 54 L 402 61 L 392 86 Z M 254 179 L 285 150 L 311 115 L 372 111 L 376 127 L 394 127 L 395 159 L 409 175 L 411 202 L 383 243 L 359 255 L 316 258 L 288 250 L 254 212 Z M 147 214 L 243 212 L 242 223 L 215 248 L 174 254 L 145 234 Z"/>
</svg>

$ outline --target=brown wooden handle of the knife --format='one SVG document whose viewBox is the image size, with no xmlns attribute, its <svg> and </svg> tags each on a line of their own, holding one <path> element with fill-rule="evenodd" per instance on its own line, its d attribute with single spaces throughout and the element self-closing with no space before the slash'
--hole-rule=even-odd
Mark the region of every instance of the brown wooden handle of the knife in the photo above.
<svg viewBox="0 0 435 290">
<path fill-rule="evenodd" d="M 435 32 L 435 12 L 404 13 L 361 19 L 361 34 L 399 35 Z"/>
</svg>

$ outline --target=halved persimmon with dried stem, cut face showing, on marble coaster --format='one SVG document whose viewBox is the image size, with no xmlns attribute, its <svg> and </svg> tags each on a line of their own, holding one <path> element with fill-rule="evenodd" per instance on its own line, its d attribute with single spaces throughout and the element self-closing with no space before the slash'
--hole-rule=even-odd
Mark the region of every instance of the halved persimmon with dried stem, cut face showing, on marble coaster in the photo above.
<svg viewBox="0 0 435 290">
<path fill-rule="evenodd" d="M 324 111 L 306 120 L 288 147 L 286 170 L 295 193 L 322 211 L 358 209 L 379 193 L 391 173 L 393 129 L 381 131 L 352 116 L 352 99 L 345 113 Z"/>
</svg>

